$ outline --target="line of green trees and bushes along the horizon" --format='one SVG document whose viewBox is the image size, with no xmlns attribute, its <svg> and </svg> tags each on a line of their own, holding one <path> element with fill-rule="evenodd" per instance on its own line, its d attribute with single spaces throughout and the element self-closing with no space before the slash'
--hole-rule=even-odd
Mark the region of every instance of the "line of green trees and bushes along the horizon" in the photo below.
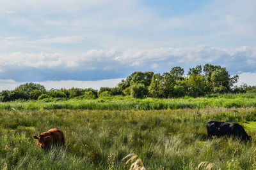
<svg viewBox="0 0 256 170">
<path fill-rule="evenodd" d="M 0 92 L 0 101 L 45 100 L 53 99 L 96 99 L 101 96 L 132 96 L 135 98 L 156 97 L 200 97 L 207 94 L 243 93 L 256 91 L 255 86 L 246 84 L 234 86 L 239 76 L 230 76 L 226 67 L 205 64 L 189 69 L 184 74 L 182 67 L 173 67 L 163 74 L 152 71 L 135 71 L 125 80 L 118 83 L 117 87 L 101 87 L 100 90 L 89 89 L 51 89 L 46 90 L 43 85 L 25 83 L 15 90 Z"/>
</svg>

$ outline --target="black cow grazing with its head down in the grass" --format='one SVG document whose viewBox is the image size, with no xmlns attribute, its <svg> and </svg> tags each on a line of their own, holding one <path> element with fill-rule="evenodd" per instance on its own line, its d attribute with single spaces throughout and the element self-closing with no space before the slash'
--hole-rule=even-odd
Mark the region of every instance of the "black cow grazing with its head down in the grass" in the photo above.
<svg viewBox="0 0 256 170">
<path fill-rule="evenodd" d="M 207 123 L 207 137 L 212 138 L 212 136 L 234 136 L 243 141 L 249 141 L 251 136 L 248 136 L 244 131 L 244 128 L 237 123 L 229 122 L 218 122 L 210 121 Z"/>
</svg>

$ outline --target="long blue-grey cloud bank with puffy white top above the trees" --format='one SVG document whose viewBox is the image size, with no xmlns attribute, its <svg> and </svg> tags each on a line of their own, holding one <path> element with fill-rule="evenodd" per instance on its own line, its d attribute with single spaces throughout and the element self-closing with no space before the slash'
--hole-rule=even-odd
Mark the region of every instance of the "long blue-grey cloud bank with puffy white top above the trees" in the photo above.
<svg viewBox="0 0 256 170">
<path fill-rule="evenodd" d="M 134 71 L 163 73 L 180 66 L 206 63 L 227 67 L 230 74 L 253 73 L 256 48 L 215 48 L 205 45 L 188 48 L 145 50 L 89 50 L 86 53 L 6 53 L 0 54 L 0 79 L 15 81 L 104 80 L 125 78 Z"/>
</svg>

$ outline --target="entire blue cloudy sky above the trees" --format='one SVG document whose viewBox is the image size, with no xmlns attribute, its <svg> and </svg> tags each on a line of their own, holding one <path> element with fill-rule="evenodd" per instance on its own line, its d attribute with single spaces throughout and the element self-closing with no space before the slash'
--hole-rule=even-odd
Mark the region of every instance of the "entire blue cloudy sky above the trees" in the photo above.
<svg viewBox="0 0 256 170">
<path fill-rule="evenodd" d="M 255 0 L 1 0 L 0 90 L 116 87 L 206 63 L 256 85 Z"/>
</svg>

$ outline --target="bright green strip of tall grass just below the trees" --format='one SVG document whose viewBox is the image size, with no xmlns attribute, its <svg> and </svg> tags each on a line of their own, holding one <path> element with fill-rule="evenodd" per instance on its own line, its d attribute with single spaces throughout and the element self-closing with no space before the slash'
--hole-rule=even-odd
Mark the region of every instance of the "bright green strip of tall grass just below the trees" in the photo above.
<svg viewBox="0 0 256 170">
<path fill-rule="evenodd" d="M 0 110 L 166 110 L 182 108 L 243 108 L 255 107 L 256 94 L 225 94 L 207 97 L 182 97 L 173 99 L 134 99 L 114 96 L 99 99 L 69 99 L 58 101 L 12 101 L 0 103 Z"/>
</svg>

